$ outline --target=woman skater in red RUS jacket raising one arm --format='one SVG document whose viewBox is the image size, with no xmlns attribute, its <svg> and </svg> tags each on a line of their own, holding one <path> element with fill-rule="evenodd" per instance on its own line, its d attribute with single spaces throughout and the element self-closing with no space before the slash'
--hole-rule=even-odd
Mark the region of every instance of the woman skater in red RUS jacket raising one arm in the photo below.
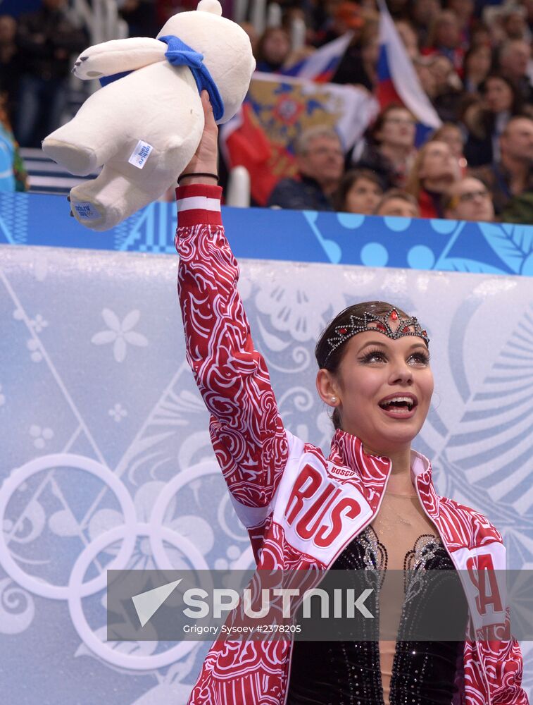
<svg viewBox="0 0 533 705">
<path fill-rule="evenodd" d="M 178 290 L 210 433 L 258 568 L 505 568 L 501 536 L 436 494 L 411 449 L 433 391 L 429 339 L 384 302 L 345 309 L 316 346 L 330 455 L 284 429 L 237 292 L 220 220 L 217 128 L 207 94 L 199 148 L 179 179 Z M 401 607 L 401 606 L 400 606 Z M 192 705 L 527 704 L 512 637 L 461 642 L 217 641 Z"/>
</svg>

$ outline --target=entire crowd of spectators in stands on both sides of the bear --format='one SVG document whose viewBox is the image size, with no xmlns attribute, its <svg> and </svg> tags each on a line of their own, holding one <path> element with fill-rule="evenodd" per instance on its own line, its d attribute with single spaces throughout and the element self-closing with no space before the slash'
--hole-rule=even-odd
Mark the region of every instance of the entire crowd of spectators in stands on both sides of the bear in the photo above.
<svg viewBox="0 0 533 705">
<path fill-rule="evenodd" d="M 130 35 L 154 36 L 196 1 L 120 0 Z M 222 2 L 231 15 L 229 0 Z M 353 39 L 332 82 L 375 93 L 380 51 L 374 0 L 280 0 L 280 26 L 249 33 L 258 70 L 277 73 L 332 39 Z M 270 206 L 363 214 L 533 223 L 533 0 L 389 0 L 420 84 L 443 123 L 415 147 L 416 117 L 389 104 L 349 154 L 330 128 L 296 145 L 296 178 Z M 1 6 L 0 6 L 1 7 Z M 291 27 L 303 20 L 303 46 Z M 68 0 L 42 0 L 18 18 L 0 16 L 0 123 L 37 147 L 65 119 L 73 56 L 89 35 Z M 68 117 L 68 116 L 67 116 Z M 5 137 L 0 131 L 0 137 Z M 0 169 L 1 171 L 1 169 Z"/>
</svg>

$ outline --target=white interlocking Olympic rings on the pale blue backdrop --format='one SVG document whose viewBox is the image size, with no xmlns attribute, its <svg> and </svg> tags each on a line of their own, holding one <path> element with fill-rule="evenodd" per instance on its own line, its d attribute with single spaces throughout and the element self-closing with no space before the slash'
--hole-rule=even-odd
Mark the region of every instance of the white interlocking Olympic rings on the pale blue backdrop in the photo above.
<svg viewBox="0 0 533 705">
<path fill-rule="evenodd" d="M 171 663 L 175 663 L 179 658 L 189 654 L 196 646 L 196 642 L 194 641 L 180 642 L 180 644 L 173 646 L 173 648 L 168 649 L 168 651 L 148 656 L 134 656 L 133 654 L 125 654 L 113 649 L 111 646 L 108 646 L 106 642 L 102 642 L 92 627 L 89 626 L 83 612 L 82 599 L 92 596 L 106 588 L 107 570 L 125 570 L 132 558 L 137 537 L 139 536 L 149 537 L 153 559 L 158 568 L 163 570 L 173 568 L 170 565 L 168 554 L 163 545 L 166 541 L 182 551 L 195 570 L 208 571 L 206 560 L 203 558 L 199 549 L 196 548 L 187 537 L 184 537 L 182 534 L 175 531 L 175 529 L 163 526 L 163 519 L 177 491 L 194 479 L 208 474 L 218 474 L 220 471 L 217 463 L 214 460 L 200 462 L 197 465 L 189 467 L 184 472 L 177 474 L 165 485 L 164 490 L 156 499 L 151 512 L 150 521 L 148 523 L 142 523 L 137 522 L 135 506 L 129 491 L 110 468 L 92 458 L 86 458 L 83 455 L 75 455 L 73 453 L 43 455 L 13 470 L 10 476 L 6 478 L 4 483 L 0 486 L 0 526 L 4 522 L 8 503 L 20 485 L 39 472 L 54 470 L 58 467 L 84 470 L 104 482 L 118 500 L 124 517 L 123 525 L 99 534 L 96 539 L 84 547 L 82 553 L 80 553 L 75 560 L 72 571 L 70 572 L 68 585 L 56 585 L 43 582 L 22 570 L 11 556 L 6 536 L 4 532 L 1 531 L 0 565 L 2 565 L 13 581 L 17 582 L 21 587 L 31 593 L 49 599 L 67 601 L 70 618 L 82 642 L 84 642 L 96 656 L 103 658 L 104 661 L 111 663 L 113 666 L 130 670 L 153 670 L 169 666 Z M 84 575 L 96 556 L 98 556 L 104 548 L 116 541 L 121 542 L 120 549 L 115 558 L 106 565 L 106 570 L 103 570 L 100 575 L 94 577 L 92 580 L 83 582 Z"/>
</svg>

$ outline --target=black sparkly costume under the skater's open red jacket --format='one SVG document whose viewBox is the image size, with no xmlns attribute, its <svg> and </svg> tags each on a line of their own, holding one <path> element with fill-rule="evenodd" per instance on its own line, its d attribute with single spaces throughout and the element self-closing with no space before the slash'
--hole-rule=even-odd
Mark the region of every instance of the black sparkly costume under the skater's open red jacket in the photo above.
<svg viewBox="0 0 533 705">
<path fill-rule="evenodd" d="M 367 527 L 341 553 L 332 570 L 384 570 L 387 549 Z M 424 534 L 405 558 L 408 575 L 422 570 L 453 570 L 438 537 Z M 410 572 L 413 571 L 413 572 Z M 402 632 L 420 618 L 413 586 L 406 585 L 390 682 L 390 705 L 451 705 L 461 697 L 455 681 L 463 663 L 463 642 L 415 642 Z M 466 623 L 467 607 L 463 605 Z M 379 613 L 379 605 L 375 603 Z M 454 698 L 455 694 L 455 698 Z M 287 705 L 382 705 L 377 639 L 360 642 L 295 642 Z"/>
</svg>

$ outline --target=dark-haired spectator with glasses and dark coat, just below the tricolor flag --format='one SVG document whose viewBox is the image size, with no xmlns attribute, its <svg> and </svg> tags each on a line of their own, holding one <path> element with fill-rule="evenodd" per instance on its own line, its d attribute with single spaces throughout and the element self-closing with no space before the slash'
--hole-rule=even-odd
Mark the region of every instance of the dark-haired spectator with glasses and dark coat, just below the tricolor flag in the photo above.
<svg viewBox="0 0 533 705">
<path fill-rule="evenodd" d="M 375 171 L 386 188 L 402 186 L 413 164 L 415 132 L 415 118 L 408 109 L 390 104 L 377 116 L 355 166 Z"/>
</svg>

